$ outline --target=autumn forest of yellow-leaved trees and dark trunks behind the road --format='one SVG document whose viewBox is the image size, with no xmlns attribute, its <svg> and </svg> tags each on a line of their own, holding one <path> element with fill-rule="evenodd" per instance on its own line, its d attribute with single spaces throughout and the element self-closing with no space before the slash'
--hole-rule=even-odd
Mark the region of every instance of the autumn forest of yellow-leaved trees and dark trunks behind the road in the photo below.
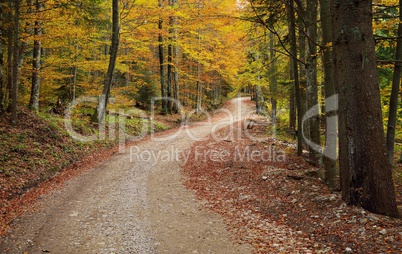
<svg viewBox="0 0 402 254">
<path fill-rule="evenodd" d="M 119 115 L 135 134 L 155 111 L 165 130 L 251 96 L 266 134 L 295 142 L 347 204 L 397 218 L 401 13 L 397 0 L 1 0 L 1 195 L 112 146 Z M 67 114 L 87 136 L 106 123 L 107 137 L 63 145 Z M 53 138 L 35 143 L 24 126 Z M 48 155 L 73 159 L 46 168 L 52 142 Z"/>
</svg>

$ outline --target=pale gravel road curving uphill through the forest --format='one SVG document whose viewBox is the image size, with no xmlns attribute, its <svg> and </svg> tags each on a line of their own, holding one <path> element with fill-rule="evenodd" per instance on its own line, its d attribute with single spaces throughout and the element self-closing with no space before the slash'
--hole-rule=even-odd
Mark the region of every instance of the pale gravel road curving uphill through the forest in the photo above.
<svg viewBox="0 0 402 254">
<path fill-rule="evenodd" d="M 40 200 L 35 212 L 14 221 L 0 252 L 250 253 L 183 186 L 177 159 L 185 160 L 195 138 L 247 116 L 246 100 L 230 101 L 212 124 L 190 124 L 180 133 L 141 141 L 69 180 Z M 147 159 L 152 154 L 159 159 Z"/>
</svg>

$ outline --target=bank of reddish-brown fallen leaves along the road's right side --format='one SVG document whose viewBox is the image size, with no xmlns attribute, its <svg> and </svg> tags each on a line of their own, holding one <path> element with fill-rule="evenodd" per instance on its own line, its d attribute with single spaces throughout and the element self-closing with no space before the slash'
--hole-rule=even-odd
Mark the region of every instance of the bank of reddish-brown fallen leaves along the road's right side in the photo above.
<svg viewBox="0 0 402 254">
<path fill-rule="evenodd" d="M 243 139 L 198 142 L 183 165 L 187 188 L 238 241 L 257 253 L 400 253 L 401 220 L 347 206 L 292 144 L 264 137 L 267 126 L 241 126 L 233 137 Z"/>
</svg>

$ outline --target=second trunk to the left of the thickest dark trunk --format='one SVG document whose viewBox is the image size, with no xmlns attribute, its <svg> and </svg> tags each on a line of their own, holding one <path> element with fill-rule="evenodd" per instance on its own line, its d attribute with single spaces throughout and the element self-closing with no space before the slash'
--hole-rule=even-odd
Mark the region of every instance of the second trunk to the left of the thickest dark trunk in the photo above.
<svg viewBox="0 0 402 254">
<path fill-rule="evenodd" d="M 306 64 L 306 102 L 307 110 L 318 105 L 318 84 L 317 84 L 317 15 L 318 2 L 316 0 L 307 0 L 307 64 Z M 317 107 L 318 108 L 318 107 Z M 308 122 L 308 136 L 313 144 L 321 148 L 320 141 L 320 115 L 312 116 Z M 313 161 L 317 161 L 320 156 L 319 151 L 309 146 L 310 157 Z"/>
</svg>

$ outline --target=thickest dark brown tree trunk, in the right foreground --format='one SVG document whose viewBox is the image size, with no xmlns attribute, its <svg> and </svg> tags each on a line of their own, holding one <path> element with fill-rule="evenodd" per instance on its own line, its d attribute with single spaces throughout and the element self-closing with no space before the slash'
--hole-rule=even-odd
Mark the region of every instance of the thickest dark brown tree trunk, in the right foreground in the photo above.
<svg viewBox="0 0 402 254">
<path fill-rule="evenodd" d="M 382 123 L 371 1 L 333 0 L 331 6 L 342 198 L 348 204 L 397 217 Z"/>
</svg>

